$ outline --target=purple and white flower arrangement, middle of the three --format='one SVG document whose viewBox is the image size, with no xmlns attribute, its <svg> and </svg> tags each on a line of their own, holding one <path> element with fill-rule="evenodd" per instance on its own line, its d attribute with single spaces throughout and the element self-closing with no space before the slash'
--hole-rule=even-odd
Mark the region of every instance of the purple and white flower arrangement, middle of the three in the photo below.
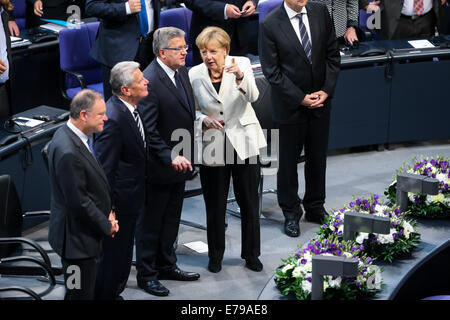
<svg viewBox="0 0 450 320">
<path fill-rule="evenodd" d="M 344 215 L 351 211 L 390 218 L 389 234 L 358 232 L 356 235 L 355 242 L 359 245 L 359 252 L 367 254 L 373 259 L 392 262 L 395 258 L 409 254 L 420 241 L 420 234 L 416 228 L 417 222 L 406 219 L 406 212 L 401 212 L 398 207 L 388 207 L 384 199 L 380 199 L 376 194 L 371 195 L 368 199 L 353 199 L 344 208 L 332 210 L 319 229 L 319 238 L 335 236 L 342 240 Z"/>
</svg>

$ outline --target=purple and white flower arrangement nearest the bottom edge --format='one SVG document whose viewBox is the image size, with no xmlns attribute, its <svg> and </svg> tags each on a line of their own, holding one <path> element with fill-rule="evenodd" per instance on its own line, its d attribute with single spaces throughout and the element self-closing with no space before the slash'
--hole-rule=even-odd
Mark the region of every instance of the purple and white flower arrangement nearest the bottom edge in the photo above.
<svg viewBox="0 0 450 320">
<path fill-rule="evenodd" d="M 381 268 L 360 252 L 354 242 L 342 242 L 336 236 L 311 240 L 304 249 L 283 259 L 275 273 L 275 283 L 282 294 L 295 294 L 299 300 L 311 299 L 312 256 L 334 255 L 357 258 L 357 277 L 324 277 L 324 299 L 355 300 L 373 296 L 382 288 Z"/>
</svg>

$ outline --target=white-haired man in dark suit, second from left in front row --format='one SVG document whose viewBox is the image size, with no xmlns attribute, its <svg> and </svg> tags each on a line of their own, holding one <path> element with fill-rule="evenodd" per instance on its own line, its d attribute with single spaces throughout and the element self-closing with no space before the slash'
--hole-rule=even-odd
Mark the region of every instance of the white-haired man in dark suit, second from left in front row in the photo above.
<svg viewBox="0 0 450 320">
<path fill-rule="evenodd" d="M 103 242 L 95 286 L 100 300 L 121 299 L 131 270 L 136 221 L 145 211 L 146 139 L 136 105 L 147 96 L 148 81 L 139 63 L 123 61 L 112 68 L 110 83 L 114 95 L 106 103 L 108 121 L 95 135 L 94 150 L 111 186 L 120 232 Z"/>
</svg>

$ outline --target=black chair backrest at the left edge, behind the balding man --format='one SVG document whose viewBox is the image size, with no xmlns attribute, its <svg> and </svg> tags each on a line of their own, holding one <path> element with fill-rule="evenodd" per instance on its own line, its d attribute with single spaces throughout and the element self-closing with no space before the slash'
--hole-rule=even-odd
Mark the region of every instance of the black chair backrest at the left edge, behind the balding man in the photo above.
<svg viewBox="0 0 450 320">
<path fill-rule="evenodd" d="M 0 176 L 0 238 L 22 235 L 22 207 L 16 186 L 9 175 Z M 9 256 L 17 244 L 0 245 L 0 258 Z"/>
</svg>

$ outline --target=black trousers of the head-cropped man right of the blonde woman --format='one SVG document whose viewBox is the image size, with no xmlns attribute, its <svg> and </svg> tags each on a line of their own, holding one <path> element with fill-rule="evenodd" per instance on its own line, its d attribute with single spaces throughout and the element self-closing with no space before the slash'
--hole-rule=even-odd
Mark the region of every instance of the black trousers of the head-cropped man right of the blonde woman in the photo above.
<svg viewBox="0 0 450 320">
<path fill-rule="evenodd" d="M 306 107 L 305 107 L 306 108 Z M 318 110 L 315 110 L 318 111 Z M 297 159 L 305 148 L 305 196 L 303 207 L 314 212 L 325 203 L 325 172 L 330 127 L 330 108 L 305 110 L 301 123 L 280 124 L 277 173 L 278 204 L 286 219 L 300 220 Z"/>
</svg>

